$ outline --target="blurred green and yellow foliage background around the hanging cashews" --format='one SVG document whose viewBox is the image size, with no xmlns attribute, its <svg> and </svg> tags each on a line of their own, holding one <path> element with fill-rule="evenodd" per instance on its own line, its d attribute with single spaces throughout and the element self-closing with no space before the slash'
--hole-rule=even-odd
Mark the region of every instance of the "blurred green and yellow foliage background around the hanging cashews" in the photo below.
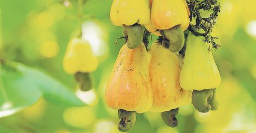
<svg viewBox="0 0 256 133">
<path fill-rule="evenodd" d="M 179 125 L 168 128 L 160 114 L 137 115 L 129 132 L 256 132 L 256 1 L 221 0 L 214 56 L 222 76 L 220 107 L 202 114 L 180 107 Z M 109 19 L 111 0 L 88 0 L 83 37 L 100 59 L 94 89 L 77 91 L 62 61 L 77 29 L 77 1 L 0 0 L 0 132 L 119 132 L 117 110 L 104 92 L 121 44 L 121 28 Z M 155 36 L 150 42 L 155 40 Z M 19 62 L 19 63 L 16 63 Z M 16 69 L 14 69 L 16 68 Z"/>
</svg>

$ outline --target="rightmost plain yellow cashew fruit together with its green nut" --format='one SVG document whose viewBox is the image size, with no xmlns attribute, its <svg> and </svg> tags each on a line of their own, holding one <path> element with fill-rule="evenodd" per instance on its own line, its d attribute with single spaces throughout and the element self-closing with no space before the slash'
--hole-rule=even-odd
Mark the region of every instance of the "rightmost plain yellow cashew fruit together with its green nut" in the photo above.
<svg viewBox="0 0 256 133">
<path fill-rule="evenodd" d="M 184 65 L 180 73 L 180 85 L 185 90 L 194 90 L 192 103 L 200 112 L 216 110 L 217 101 L 214 99 L 215 89 L 221 83 L 210 44 L 202 37 L 188 34 Z"/>
</svg>

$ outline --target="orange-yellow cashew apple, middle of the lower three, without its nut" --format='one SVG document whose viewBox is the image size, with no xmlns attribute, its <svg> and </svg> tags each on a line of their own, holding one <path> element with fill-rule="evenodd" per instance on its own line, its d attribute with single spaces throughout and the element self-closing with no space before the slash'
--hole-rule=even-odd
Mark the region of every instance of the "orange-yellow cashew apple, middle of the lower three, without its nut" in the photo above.
<svg viewBox="0 0 256 133">
<path fill-rule="evenodd" d="M 150 111 L 165 112 L 191 101 L 191 91 L 180 87 L 180 60 L 177 55 L 154 42 L 150 49 L 149 76 L 154 100 Z"/>
</svg>

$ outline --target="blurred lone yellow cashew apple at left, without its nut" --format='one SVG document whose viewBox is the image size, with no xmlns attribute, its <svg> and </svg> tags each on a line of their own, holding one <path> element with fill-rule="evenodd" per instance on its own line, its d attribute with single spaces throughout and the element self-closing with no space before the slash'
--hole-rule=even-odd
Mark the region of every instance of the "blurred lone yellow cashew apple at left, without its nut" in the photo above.
<svg viewBox="0 0 256 133">
<path fill-rule="evenodd" d="M 63 68 L 68 74 L 93 72 L 98 64 L 89 42 L 82 38 L 74 38 L 70 41 L 63 59 Z"/>
</svg>

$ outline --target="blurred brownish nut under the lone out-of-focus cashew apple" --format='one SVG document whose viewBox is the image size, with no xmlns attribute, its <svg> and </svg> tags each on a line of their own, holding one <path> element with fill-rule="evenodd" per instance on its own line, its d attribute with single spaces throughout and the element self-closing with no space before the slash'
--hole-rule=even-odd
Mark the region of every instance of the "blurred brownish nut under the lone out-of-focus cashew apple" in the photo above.
<svg viewBox="0 0 256 133">
<path fill-rule="evenodd" d="M 80 90 L 88 91 L 92 89 L 92 81 L 90 79 L 90 74 L 86 72 L 77 72 L 75 74 L 75 79 L 79 84 Z"/>
</svg>

